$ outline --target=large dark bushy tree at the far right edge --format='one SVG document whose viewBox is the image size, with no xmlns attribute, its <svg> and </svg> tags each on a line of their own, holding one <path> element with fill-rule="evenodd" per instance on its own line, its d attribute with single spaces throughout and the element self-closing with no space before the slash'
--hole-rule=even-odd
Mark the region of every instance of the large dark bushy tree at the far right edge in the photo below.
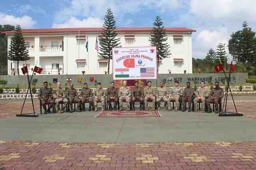
<svg viewBox="0 0 256 170">
<path fill-rule="evenodd" d="M 230 35 L 228 50 L 234 61 L 242 62 L 243 64 L 252 63 L 256 59 L 255 32 L 248 27 L 246 22 L 243 22 L 242 27 L 242 30 Z"/>
</svg>

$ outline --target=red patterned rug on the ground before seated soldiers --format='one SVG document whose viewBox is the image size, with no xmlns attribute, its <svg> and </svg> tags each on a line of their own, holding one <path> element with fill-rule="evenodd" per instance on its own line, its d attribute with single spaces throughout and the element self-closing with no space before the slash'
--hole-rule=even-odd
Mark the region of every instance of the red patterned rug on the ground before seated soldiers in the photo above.
<svg viewBox="0 0 256 170">
<path fill-rule="evenodd" d="M 159 111 L 101 111 L 95 117 L 161 117 Z"/>
</svg>

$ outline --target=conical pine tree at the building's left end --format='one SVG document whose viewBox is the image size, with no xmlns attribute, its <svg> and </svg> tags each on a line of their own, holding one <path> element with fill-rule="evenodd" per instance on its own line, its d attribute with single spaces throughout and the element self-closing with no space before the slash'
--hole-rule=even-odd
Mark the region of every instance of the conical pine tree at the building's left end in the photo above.
<svg viewBox="0 0 256 170">
<path fill-rule="evenodd" d="M 26 43 L 21 33 L 20 25 L 16 25 L 15 35 L 12 38 L 10 50 L 8 51 L 8 59 L 11 61 L 17 61 L 18 75 L 19 73 L 19 61 L 29 60 L 28 49 L 26 49 Z"/>
</svg>

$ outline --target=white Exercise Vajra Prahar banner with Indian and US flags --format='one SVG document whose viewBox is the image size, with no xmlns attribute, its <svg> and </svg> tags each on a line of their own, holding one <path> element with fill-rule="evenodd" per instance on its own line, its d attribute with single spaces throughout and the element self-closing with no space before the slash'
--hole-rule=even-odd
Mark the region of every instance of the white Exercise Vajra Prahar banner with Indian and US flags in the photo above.
<svg viewBox="0 0 256 170">
<path fill-rule="evenodd" d="M 113 48 L 113 79 L 156 79 L 156 47 Z"/>
</svg>

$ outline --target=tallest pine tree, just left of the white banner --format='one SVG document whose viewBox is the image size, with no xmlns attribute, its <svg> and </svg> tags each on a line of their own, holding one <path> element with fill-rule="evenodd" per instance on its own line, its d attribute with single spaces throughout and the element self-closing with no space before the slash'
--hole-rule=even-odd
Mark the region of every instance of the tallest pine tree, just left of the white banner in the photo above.
<svg viewBox="0 0 256 170">
<path fill-rule="evenodd" d="M 108 8 L 106 15 L 104 17 L 103 32 L 102 37 L 99 38 L 100 41 L 100 59 L 108 59 L 108 74 L 110 60 L 112 60 L 112 48 L 118 47 L 120 45 L 120 38 L 116 38 L 118 35 L 115 31 L 116 21 L 112 10 Z"/>
</svg>

